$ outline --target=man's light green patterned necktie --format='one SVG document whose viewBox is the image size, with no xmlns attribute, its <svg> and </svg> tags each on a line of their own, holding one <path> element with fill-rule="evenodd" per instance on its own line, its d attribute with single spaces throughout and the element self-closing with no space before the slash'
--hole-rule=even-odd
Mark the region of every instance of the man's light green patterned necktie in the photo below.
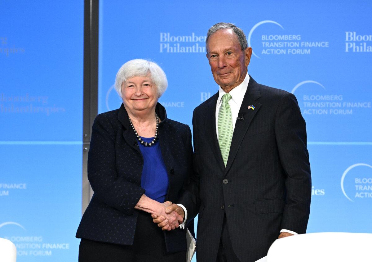
<svg viewBox="0 0 372 262">
<path fill-rule="evenodd" d="M 232 140 L 232 119 L 229 100 L 231 95 L 229 93 L 222 96 L 222 104 L 218 111 L 218 143 L 221 149 L 222 159 L 226 167 L 227 158 L 229 157 L 230 145 Z"/>
</svg>

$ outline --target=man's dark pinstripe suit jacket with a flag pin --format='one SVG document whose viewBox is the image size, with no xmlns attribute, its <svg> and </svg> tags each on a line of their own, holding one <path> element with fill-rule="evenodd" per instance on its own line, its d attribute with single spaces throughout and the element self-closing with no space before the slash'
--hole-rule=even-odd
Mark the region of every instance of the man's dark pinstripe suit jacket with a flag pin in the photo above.
<svg viewBox="0 0 372 262">
<path fill-rule="evenodd" d="M 311 176 L 305 121 L 294 95 L 250 78 L 240 108 L 244 120 L 236 121 L 225 168 L 215 130 L 217 98 L 194 110 L 195 175 L 179 203 L 190 219 L 199 213 L 199 261 L 215 261 L 225 213 L 234 252 L 241 261 L 256 261 L 281 229 L 306 232 Z"/>
</svg>

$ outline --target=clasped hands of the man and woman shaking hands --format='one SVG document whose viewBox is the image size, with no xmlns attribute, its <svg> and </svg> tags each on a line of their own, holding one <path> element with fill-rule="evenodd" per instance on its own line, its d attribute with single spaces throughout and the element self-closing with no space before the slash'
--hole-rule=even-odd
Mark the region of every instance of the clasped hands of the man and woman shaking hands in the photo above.
<svg viewBox="0 0 372 262">
<path fill-rule="evenodd" d="M 166 201 L 161 205 L 163 208 L 158 211 L 158 214 L 151 214 L 154 223 L 158 224 L 161 229 L 168 231 L 179 227 L 183 223 L 183 218 L 185 218 L 183 209 L 170 201 Z"/>
</svg>

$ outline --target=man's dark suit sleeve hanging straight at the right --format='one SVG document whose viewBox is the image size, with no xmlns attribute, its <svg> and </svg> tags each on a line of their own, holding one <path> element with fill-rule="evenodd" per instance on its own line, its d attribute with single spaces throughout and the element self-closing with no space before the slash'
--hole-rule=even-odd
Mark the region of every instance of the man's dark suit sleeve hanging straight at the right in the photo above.
<svg viewBox="0 0 372 262">
<path fill-rule="evenodd" d="M 285 93 L 276 111 L 275 136 L 286 174 L 286 203 L 281 228 L 303 234 L 310 214 L 310 162 L 305 120 L 291 93 Z"/>
</svg>

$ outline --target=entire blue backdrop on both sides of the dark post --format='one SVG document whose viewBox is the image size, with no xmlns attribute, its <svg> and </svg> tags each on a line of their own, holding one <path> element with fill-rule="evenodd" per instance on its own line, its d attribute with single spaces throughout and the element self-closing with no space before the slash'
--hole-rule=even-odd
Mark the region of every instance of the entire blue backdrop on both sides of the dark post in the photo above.
<svg viewBox="0 0 372 262">
<path fill-rule="evenodd" d="M 0 237 L 19 261 L 76 261 L 81 215 L 83 3 L 0 3 Z M 156 61 L 160 102 L 191 126 L 218 90 L 205 57 L 217 22 L 242 28 L 257 82 L 296 95 L 312 171 L 308 232 L 372 233 L 372 3 L 100 1 L 99 113 L 119 67 Z M 68 244 L 68 245 L 67 245 Z"/>
</svg>

